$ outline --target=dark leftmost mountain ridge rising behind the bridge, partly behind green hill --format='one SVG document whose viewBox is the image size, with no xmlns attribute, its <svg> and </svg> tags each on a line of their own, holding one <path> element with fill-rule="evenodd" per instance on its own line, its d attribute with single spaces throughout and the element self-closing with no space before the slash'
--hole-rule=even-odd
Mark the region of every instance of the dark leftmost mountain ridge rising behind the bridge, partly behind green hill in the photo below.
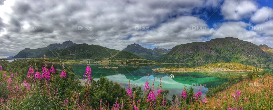
<svg viewBox="0 0 273 110">
<path fill-rule="evenodd" d="M 30 58 L 35 58 L 38 55 L 45 53 L 46 51 L 56 51 L 59 49 L 64 49 L 66 47 L 71 47 L 74 45 L 78 45 L 76 43 L 73 43 L 72 41 L 65 41 L 62 44 L 60 43 L 53 43 L 48 45 L 47 47 L 43 48 L 38 48 L 38 49 L 30 49 L 30 48 L 25 48 L 22 51 L 20 51 L 17 55 L 15 55 L 13 58 L 25 58 L 26 57 L 26 52 L 28 53 L 28 57 Z"/>
</svg>

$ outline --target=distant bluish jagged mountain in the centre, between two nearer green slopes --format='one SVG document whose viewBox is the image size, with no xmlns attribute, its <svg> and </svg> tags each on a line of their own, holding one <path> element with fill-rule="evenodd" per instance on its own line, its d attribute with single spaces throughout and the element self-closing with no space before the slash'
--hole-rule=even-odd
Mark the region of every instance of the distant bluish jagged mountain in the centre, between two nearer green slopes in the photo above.
<svg viewBox="0 0 273 110">
<path fill-rule="evenodd" d="M 146 49 L 136 43 L 128 45 L 123 51 L 131 52 L 139 57 L 142 57 L 144 59 L 148 60 L 154 60 L 156 57 L 159 57 L 161 55 L 164 55 L 168 53 L 169 51 L 164 49 L 164 48 L 155 48 L 154 50 L 152 49 Z"/>
</svg>

